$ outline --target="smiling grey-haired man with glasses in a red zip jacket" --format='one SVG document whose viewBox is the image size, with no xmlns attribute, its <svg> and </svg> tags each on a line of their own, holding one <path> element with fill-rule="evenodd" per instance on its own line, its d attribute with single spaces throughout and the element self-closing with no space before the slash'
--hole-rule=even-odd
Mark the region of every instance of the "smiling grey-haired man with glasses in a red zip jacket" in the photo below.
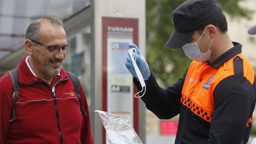
<svg viewBox="0 0 256 144">
<path fill-rule="evenodd" d="M 0 78 L 0 144 L 93 144 L 83 87 L 79 83 L 78 99 L 61 68 L 71 49 L 62 21 L 42 17 L 28 26 L 25 39 L 29 56 L 18 66 L 16 102 L 9 73 Z"/>
</svg>

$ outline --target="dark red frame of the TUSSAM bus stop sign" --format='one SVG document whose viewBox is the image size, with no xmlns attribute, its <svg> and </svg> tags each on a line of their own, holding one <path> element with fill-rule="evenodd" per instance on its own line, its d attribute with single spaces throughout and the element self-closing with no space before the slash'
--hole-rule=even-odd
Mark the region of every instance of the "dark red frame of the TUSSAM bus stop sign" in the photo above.
<svg viewBox="0 0 256 144">
<path fill-rule="evenodd" d="M 129 33 L 132 36 L 133 43 L 138 45 L 138 19 L 125 19 L 125 18 L 112 18 L 112 17 L 102 17 L 102 110 L 107 111 L 108 109 L 108 34 L 112 35 L 126 35 Z M 97 39 L 97 38 L 96 38 Z M 117 43 L 112 43 L 115 45 Z M 119 42 L 123 45 L 122 42 Z M 125 57 L 124 57 L 125 59 Z M 123 64 L 125 65 L 125 64 Z M 137 93 L 137 89 L 133 86 L 133 93 Z M 138 99 L 133 99 L 133 126 L 137 134 L 139 134 L 139 109 L 138 109 Z M 106 144 L 106 132 L 104 127 L 102 127 L 102 140 L 103 144 Z"/>
</svg>

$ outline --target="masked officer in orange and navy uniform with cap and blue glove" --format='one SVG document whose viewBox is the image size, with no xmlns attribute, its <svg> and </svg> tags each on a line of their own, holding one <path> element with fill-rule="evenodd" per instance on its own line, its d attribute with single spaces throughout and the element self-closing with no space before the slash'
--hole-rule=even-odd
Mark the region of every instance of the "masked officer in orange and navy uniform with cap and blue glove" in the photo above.
<svg viewBox="0 0 256 144">
<path fill-rule="evenodd" d="M 172 12 L 175 31 L 166 43 L 182 47 L 192 63 L 182 78 L 159 87 L 138 47 L 136 64 L 146 84 L 142 97 L 160 119 L 180 114 L 175 144 L 245 144 L 256 101 L 254 69 L 232 42 L 215 0 L 187 0 Z M 129 55 L 126 67 L 142 90 Z M 141 92 L 143 94 L 144 92 Z"/>
</svg>

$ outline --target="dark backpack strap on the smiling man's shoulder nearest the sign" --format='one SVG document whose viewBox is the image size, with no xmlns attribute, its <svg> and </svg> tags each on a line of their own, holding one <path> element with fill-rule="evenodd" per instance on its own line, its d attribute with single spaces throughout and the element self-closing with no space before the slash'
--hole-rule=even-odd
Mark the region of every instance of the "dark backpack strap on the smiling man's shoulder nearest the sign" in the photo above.
<svg viewBox="0 0 256 144">
<path fill-rule="evenodd" d="M 66 73 L 69 74 L 69 77 L 72 80 L 72 83 L 73 83 L 73 86 L 74 86 L 74 89 L 75 89 L 75 92 L 76 92 L 76 97 L 78 97 L 78 101 L 80 103 L 81 113 L 83 114 L 83 117 L 85 118 L 87 116 L 87 113 L 83 109 L 83 105 L 82 105 L 82 100 L 81 100 L 81 95 L 80 95 L 80 90 L 81 90 L 80 80 L 75 74 L 73 74 L 69 71 L 66 71 Z"/>
</svg>

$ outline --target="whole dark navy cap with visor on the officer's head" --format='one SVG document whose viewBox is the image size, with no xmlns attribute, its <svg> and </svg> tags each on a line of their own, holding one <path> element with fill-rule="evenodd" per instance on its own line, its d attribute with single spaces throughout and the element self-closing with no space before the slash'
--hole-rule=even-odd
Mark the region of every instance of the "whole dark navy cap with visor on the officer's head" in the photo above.
<svg viewBox="0 0 256 144">
<path fill-rule="evenodd" d="M 185 45 L 195 29 L 213 21 L 222 14 L 216 0 L 187 0 L 172 12 L 173 34 L 166 46 L 177 49 Z"/>
</svg>

